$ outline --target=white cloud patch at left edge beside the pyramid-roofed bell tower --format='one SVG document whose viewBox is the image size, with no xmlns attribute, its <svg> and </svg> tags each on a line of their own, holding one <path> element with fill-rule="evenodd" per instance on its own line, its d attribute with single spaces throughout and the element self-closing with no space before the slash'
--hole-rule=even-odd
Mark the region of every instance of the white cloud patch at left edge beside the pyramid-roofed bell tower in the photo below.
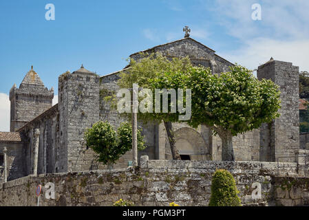
<svg viewBox="0 0 309 220">
<path fill-rule="evenodd" d="M 0 94 L 0 131 L 10 131 L 10 99 Z"/>
</svg>

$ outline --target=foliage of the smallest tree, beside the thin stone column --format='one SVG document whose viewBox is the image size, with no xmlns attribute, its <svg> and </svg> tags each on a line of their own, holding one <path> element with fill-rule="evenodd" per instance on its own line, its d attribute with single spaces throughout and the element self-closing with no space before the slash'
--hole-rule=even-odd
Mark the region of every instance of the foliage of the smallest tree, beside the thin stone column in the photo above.
<svg viewBox="0 0 309 220">
<path fill-rule="evenodd" d="M 144 137 L 138 129 L 138 149 L 145 148 Z M 132 148 L 132 127 L 129 122 L 123 122 L 115 131 L 109 122 L 96 122 L 85 132 L 87 146 L 98 154 L 98 162 L 114 164 L 121 155 Z"/>
</svg>

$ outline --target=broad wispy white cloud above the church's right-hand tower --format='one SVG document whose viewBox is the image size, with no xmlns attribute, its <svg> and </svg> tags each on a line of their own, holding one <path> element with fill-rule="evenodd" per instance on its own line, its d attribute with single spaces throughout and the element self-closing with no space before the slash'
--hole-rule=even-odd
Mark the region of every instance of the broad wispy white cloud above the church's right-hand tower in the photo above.
<svg viewBox="0 0 309 220">
<path fill-rule="evenodd" d="M 251 19 L 253 3 L 262 6 L 262 21 Z M 242 43 L 220 54 L 228 61 L 255 69 L 273 56 L 308 71 L 309 1 L 217 0 L 212 10 L 227 34 Z"/>
</svg>

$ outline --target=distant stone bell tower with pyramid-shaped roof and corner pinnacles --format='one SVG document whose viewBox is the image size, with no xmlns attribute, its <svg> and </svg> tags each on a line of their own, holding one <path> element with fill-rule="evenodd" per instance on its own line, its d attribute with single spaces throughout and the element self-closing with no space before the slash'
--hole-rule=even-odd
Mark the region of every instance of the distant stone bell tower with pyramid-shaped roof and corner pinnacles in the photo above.
<svg viewBox="0 0 309 220">
<path fill-rule="evenodd" d="M 54 89 L 47 89 L 33 67 L 23 78 L 19 88 L 10 89 L 10 131 L 17 131 L 24 124 L 52 107 Z"/>
</svg>

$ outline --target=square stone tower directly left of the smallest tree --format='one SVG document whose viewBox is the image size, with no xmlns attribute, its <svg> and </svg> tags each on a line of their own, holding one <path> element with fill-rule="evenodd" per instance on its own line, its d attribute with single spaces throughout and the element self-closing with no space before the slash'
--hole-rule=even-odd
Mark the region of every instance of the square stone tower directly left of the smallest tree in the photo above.
<svg viewBox="0 0 309 220">
<path fill-rule="evenodd" d="M 85 130 L 98 122 L 100 76 L 81 66 L 58 78 L 60 158 L 58 172 L 91 170 L 93 152 L 83 140 Z"/>
</svg>

